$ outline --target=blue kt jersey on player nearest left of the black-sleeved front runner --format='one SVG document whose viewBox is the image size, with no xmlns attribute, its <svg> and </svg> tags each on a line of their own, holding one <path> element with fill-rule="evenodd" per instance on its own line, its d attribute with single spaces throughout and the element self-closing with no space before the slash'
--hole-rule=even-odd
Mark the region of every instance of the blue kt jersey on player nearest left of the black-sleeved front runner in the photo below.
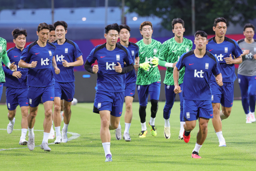
<svg viewBox="0 0 256 171">
<path fill-rule="evenodd" d="M 59 74 L 55 74 L 53 68 L 52 72 L 55 77 L 55 81 L 74 82 L 74 67 L 64 67 L 62 62 L 64 62 L 63 59 L 67 62 L 75 62 L 76 58 L 82 55 L 81 50 L 75 42 L 68 39 L 66 39 L 63 45 L 58 45 L 57 40 L 52 44 L 56 46 L 55 59 L 58 68 L 61 70 Z"/>
</svg>

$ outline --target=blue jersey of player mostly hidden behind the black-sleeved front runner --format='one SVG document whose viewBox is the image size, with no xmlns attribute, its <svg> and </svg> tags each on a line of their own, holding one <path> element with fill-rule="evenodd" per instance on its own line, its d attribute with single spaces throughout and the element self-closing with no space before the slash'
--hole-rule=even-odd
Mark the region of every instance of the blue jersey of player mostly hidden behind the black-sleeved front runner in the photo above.
<svg viewBox="0 0 256 171">
<path fill-rule="evenodd" d="M 121 45 L 120 42 L 117 42 Z M 130 52 L 131 55 L 131 59 L 133 61 L 134 64 L 134 59 L 135 57 L 139 56 L 139 46 L 135 43 L 129 42 L 128 48 L 127 48 Z M 125 67 L 127 65 L 125 64 Z M 137 81 L 137 77 L 136 77 L 136 73 L 135 70 L 131 70 L 130 72 L 125 74 L 125 83 L 131 83 L 131 82 L 136 82 Z"/>
</svg>

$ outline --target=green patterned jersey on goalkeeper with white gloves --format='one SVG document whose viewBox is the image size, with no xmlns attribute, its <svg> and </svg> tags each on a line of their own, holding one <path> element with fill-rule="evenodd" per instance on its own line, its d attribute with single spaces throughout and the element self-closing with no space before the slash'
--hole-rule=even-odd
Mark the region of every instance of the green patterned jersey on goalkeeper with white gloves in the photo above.
<svg viewBox="0 0 256 171">
<path fill-rule="evenodd" d="M 192 41 L 183 37 L 182 43 L 177 43 L 175 37 L 172 39 L 166 40 L 163 42 L 163 45 L 160 49 L 159 59 L 165 60 L 169 63 L 175 63 L 180 59 L 180 56 L 183 53 L 192 50 Z M 179 84 L 183 83 L 185 68 L 183 67 L 180 70 Z M 163 81 L 166 85 L 174 85 L 173 81 L 173 68 L 167 67 L 166 76 Z"/>
</svg>

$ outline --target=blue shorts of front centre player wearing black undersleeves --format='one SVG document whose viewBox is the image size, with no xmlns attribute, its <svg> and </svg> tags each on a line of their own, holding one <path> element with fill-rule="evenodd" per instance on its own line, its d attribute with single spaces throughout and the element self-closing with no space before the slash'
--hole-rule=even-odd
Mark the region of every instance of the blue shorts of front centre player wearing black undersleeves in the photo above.
<svg viewBox="0 0 256 171">
<path fill-rule="evenodd" d="M 110 114 L 112 116 L 120 117 L 122 115 L 124 98 L 125 92 L 112 93 L 97 90 L 93 104 L 93 112 L 99 113 L 101 110 L 108 110 L 111 111 Z"/>
</svg>

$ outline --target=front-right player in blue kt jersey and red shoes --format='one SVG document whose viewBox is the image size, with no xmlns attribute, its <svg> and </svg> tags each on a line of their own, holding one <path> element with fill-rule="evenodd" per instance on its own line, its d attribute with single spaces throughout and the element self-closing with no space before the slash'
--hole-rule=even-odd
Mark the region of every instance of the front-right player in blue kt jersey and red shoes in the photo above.
<svg viewBox="0 0 256 171">
<path fill-rule="evenodd" d="M 173 79 L 175 84 L 174 92 L 183 95 L 184 112 L 184 133 L 183 140 L 188 143 L 190 132 L 195 128 L 196 120 L 199 120 L 199 131 L 195 143 L 195 149 L 191 157 L 201 158 L 199 149 L 207 137 L 207 126 L 209 119 L 213 117 L 211 104 L 210 76 L 213 74 L 218 86 L 222 86 L 222 76 L 218 59 L 212 53 L 206 50 L 208 43 L 207 34 L 204 31 L 195 33 L 195 49 L 190 50 L 180 56 L 173 70 Z M 178 71 L 185 67 L 183 89 L 179 86 Z"/>
</svg>

